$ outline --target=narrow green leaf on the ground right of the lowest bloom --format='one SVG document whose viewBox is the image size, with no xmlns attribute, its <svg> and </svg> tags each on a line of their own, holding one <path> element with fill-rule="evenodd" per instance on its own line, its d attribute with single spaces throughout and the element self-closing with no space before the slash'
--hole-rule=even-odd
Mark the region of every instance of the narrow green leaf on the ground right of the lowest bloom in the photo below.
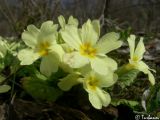
<svg viewBox="0 0 160 120">
<path fill-rule="evenodd" d="M 131 108 L 134 108 L 135 106 L 139 105 L 137 101 L 133 100 L 126 100 L 126 99 L 112 99 L 111 104 L 113 106 L 118 106 L 120 104 L 125 104 L 130 106 Z"/>
</svg>

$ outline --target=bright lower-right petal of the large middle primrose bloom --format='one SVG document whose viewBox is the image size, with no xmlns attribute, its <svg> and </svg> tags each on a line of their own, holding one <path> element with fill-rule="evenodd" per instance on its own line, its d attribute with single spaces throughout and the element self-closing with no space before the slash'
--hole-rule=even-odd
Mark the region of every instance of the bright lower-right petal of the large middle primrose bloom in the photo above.
<svg viewBox="0 0 160 120">
<path fill-rule="evenodd" d="M 99 57 L 91 59 L 91 67 L 92 69 L 102 75 L 108 74 L 108 63 Z"/>
</svg>

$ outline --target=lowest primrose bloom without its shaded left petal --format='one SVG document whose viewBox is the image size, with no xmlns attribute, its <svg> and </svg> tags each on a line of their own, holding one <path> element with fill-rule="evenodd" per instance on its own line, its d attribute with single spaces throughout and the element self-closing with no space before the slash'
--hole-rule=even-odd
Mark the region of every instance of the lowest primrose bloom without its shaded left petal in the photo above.
<svg viewBox="0 0 160 120">
<path fill-rule="evenodd" d="M 95 72 L 91 72 L 83 78 L 83 87 L 88 92 L 89 101 L 93 107 L 101 109 L 102 106 L 106 107 L 109 105 L 111 97 L 102 88 L 112 86 L 117 78 L 117 75 L 113 73 L 100 75 Z"/>
</svg>

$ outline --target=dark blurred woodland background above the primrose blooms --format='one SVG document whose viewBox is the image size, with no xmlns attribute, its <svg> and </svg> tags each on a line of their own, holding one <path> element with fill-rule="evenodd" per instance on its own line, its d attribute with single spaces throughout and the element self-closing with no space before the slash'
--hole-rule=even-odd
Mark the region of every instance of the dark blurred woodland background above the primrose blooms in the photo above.
<svg viewBox="0 0 160 120">
<path fill-rule="evenodd" d="M 61 14 L 160 36 L 160 0 L 0 0 L 0 35 L 20 36 L 28 24 L 56 22 Z"/>
</svg>

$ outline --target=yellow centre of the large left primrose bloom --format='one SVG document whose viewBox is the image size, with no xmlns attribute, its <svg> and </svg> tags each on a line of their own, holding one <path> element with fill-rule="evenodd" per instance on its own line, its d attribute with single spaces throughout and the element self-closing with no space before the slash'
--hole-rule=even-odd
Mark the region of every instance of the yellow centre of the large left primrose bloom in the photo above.
<svg viewBox="0 0 160 120">
<path fill-rule="evenodd" d="M 37 51 L 40 54 L 40 56 L 48 55 L 49 47 L 50 47 L 50 43 L 47 41 L 39 43 L 37 47 Z"/>
</svg>

